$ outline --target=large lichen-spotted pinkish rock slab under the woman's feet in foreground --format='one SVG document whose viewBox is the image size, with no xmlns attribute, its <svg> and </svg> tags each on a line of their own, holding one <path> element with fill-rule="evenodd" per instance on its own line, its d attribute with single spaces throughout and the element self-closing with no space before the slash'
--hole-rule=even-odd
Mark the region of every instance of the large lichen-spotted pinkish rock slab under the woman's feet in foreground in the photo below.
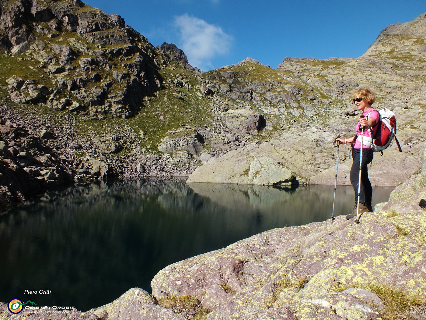
<svg viewBox="0 0 426 320">
<path fill-rule="evenodd" d="M 153 295 L 194 295 L 207 319 L 376 319 L 371 284 L 426 301 L 424 198 L 426 176 L 412 177 L 361 224 L 340 216 L 260 233 L 164 268 Z M 426 317 L 424 306 L 409 312 Z"/>
</svg>

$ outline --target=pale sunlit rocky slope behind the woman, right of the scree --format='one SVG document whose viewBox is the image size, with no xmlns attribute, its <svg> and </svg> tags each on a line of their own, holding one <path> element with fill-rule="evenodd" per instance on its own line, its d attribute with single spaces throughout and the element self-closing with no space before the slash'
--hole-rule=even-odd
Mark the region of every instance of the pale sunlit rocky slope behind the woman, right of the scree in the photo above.
<svg viewBox="0 0 426 320">
<path fill-rule="evenodd" d="M 334 183 L 337 150 L 332 142 L 337 134 L 353 134 L 357 113 L 350 105 L 351 91 L 368 86 L 377 95 L 373 106 L 396 114 L 404 151 L 398 153 L 394 147 L 385 157 L 376 155 L 369 174 L 376 185 L 402 182 L 419 169 L 425 140 L 425 40 L 423 14 L 383 30 L 360 58 L 285 58 L 277 70 L 245 61 L 208 72 L 205 77 L 217 90 L 249 101 L 267 119 L 275 116 L 274 130 L 268 143 L 232 151 L 196 169 L 188 181 L 279 184 L 291 178 L 267 172 L 285 169 L 299 183 Z M 338 183 L 349 184 L 351 160 L 348 148 L 341 149 Z"/>
</svg>

